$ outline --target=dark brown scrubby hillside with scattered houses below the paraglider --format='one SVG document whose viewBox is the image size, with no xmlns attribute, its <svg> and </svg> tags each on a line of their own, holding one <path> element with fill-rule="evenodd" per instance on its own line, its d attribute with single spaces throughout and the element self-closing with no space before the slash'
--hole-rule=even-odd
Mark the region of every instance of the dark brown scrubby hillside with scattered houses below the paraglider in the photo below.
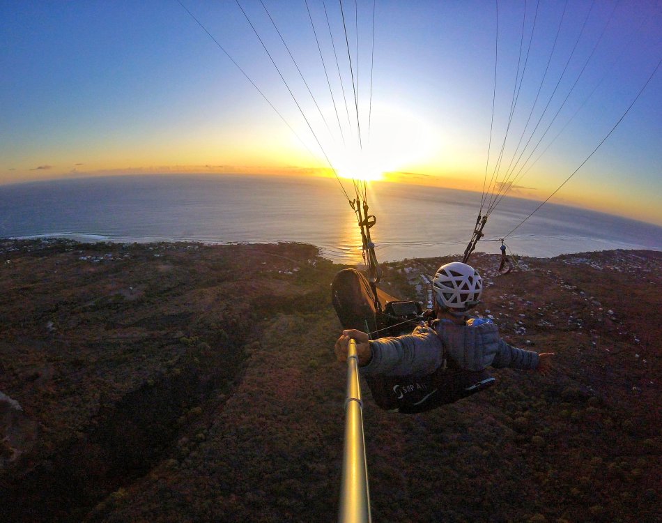
<svg viewBox="0 0 662 523">
<path fill-rule="evenodd" d="M 449 259 L 385 264 L 416 296 Z M 336 519 L 345 367 L 309 245 L 0 241 L 0 520 Z M 424 414 L 364 386 L 375 522 L 662 519 L 662 253 L 475 255 L 555 370 Z"/>
</svg>

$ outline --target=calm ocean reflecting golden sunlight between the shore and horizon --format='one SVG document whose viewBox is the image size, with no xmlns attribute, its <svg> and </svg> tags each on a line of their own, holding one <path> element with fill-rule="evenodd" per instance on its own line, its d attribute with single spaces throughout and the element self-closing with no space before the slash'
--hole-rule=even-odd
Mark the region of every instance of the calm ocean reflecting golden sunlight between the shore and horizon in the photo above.
<svg viewBox="0 0 662 523">
<path fill-rule="evenodd" d="M 351 187 L 346 181 L 346 187 Z M 371 229 L 380 261 L 464 251 L 477 218 L 475 192 L 371 183 Z M 498 238 L 536 202 L 505 198 L 477 251 L 498 254 Z M 0 237 L 82 241 L 311 243 L 344 263 L 361 259 L 356 219 L 336 179 L 280 176 L 112 176 L 0 186 Z M 662 250 L 662 227 L 548 203 L 507 236 L 516 255 L 551 257 L 610 249 Z"/>
</svg>

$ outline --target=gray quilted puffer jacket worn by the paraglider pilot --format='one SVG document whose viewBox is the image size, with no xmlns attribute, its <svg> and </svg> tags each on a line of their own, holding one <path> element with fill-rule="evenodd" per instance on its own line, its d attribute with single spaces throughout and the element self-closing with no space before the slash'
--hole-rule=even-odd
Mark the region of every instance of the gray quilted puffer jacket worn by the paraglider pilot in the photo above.
<svg viewBox="0 0 662 523">
<path fill-rule="evenodd" d="M 465 370 L 483 370 L 488 365 L 534 369 L 538 354 L 517 349 L 499 335 L 495 324 L 455 325 L 435 321 L 433 328 L 420 326 L 413 333 L 370 342 L 372 358 L 361 367 L 365 376 L 409 376 L 431 374 L 444 359 Z"/>
</svg>

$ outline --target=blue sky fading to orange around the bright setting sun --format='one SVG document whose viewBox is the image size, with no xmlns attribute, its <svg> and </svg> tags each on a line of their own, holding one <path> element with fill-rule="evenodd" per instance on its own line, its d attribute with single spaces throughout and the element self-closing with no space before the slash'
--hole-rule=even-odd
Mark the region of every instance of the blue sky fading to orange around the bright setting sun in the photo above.
<svg viewBox="0 0 662 523">
<path fill-rule="evenodd" d="M 662 1 L 0 0 L 0 20 L 0 183 L 337 175 L 544 200 L 570 177 L 552 202 L 662 225 Z"/>
</svg>

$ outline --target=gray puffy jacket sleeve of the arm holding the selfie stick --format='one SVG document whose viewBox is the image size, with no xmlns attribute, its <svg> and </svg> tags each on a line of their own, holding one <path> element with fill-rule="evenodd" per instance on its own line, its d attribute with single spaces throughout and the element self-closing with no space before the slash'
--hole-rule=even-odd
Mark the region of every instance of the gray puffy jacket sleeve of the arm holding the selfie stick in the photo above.
<svg viewBox="0 0 662 523">
<path fill-rule="evenodd" d="M 427 327 L 412 334 L 370 342 L 372 358 L 360 372 L 364 376 L 430 374 L 443 362 L 444 349 L 438 335 Z"/>
</svg>

